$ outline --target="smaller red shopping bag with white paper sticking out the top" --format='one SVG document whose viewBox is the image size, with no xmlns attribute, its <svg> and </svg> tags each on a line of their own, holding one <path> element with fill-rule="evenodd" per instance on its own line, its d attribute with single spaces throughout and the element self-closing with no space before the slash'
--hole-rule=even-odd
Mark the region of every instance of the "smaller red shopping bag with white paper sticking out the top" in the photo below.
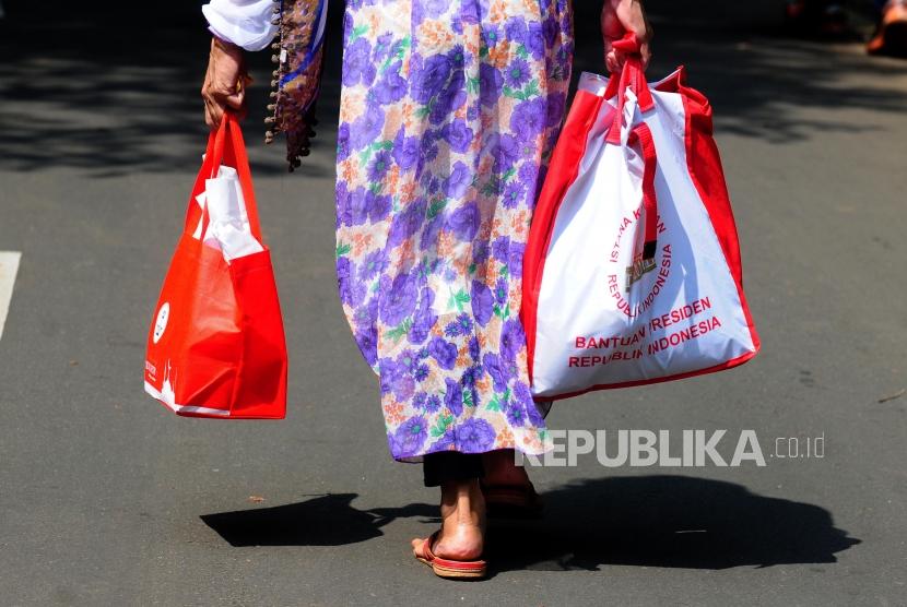
<svg viewBox="0 0 907 607">
<path fill-rule="evenodd" d="M 243 134 L 212 133 L 148 336 L 145 391 L 178 415 L 281 419 L 286 344 Z"/>
</svg>

